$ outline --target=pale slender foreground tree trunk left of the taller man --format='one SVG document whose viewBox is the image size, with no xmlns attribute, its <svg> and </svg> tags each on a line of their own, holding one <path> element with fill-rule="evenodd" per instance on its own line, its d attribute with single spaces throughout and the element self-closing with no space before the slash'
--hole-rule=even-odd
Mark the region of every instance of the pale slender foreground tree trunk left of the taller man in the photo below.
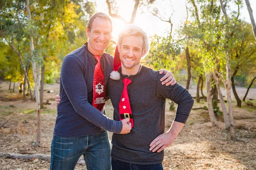
<svg viewBox="0 0 256 170">
<path fill-rule="evenodd" d="M 26 0 L 26 7 L 29 17 L 29 22 L 31 21 L 31 14 L 29 9 L 29 0 Z M 40 114 L 40 99 L 39 99 L 39 80 L 38 80 L 38 74 L 37 74 L 37 65 L 35 62 L 35 56 L 33 55 L 34 51 L 34 43 L 33 43 L 33 37 L 30 35 L 30 54 L 32 56 L 32 67 L 33 67 L 33 76 L 34 76 L 34 82 L 35 82 L 35 99 L 36 99 L 36 111 L 37 111 L 37 138 L 36 138 L 36 145 L 40 146 L 41 142 L 41 114 Z"/>
</svg>

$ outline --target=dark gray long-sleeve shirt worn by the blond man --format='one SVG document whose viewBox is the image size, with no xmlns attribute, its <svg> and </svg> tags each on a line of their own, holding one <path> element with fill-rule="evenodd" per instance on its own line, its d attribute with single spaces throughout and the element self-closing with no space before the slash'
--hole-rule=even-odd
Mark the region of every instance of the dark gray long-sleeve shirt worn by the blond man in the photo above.
<svg viewBox="0 0 256 170">
<path fill-rule="evenodd" d="M 114 108 L 113 119 L 119 120 L 119 102 L 123 91 L 123 79 L 108 80 L 109 95 Z M 159 164 L 163 161 L 160 153 L 149 150 L 149 144 L 165 132 L 166 99 L 177 103 L 175 121 L 185 123 L 194 104 L 191 94 L 179 84 L 162 85 L 163 75 L 159 71 L 142 66 L 137 75 L 131 75 L 128 96 L 134 121 L 131 132 L 125 135 L 113 134 L 112 159 L 131 164 Z"/>
</svg>

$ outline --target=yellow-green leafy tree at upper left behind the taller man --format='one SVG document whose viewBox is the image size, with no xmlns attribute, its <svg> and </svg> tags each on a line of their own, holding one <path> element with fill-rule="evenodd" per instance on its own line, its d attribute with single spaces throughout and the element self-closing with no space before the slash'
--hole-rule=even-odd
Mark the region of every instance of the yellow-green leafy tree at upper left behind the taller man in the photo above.
<svg viewBox="0 0 256 170">
<path fill-rule="evenodd" d="M 42 106 L 44 73 L 48 82 L 57 77 L 64 56 L 84 44 L 87 20 L 95 11 L 94 3 L 84 0 L 27 0 L 25 3 L 19 0 L 1 3 L 0 8 L 0 42 L 9 45 L 16 54 L 9 60 L 12 64 L 8 69 L 14 70 L 12 65 L 16 61 L 15 57 L 19 59 L 23 75 L 18 73 L 19 65 L 16 65 L 15 74 L 26 77 L 29 87 L 35 85 L 38 89 L 41 88 Z M 6 58 L 6 54 L 3 55 Z M 29 62 L 33 67 L 30 67 Z M 31 69 L 33 72 L 29 72 Z M 38 102 L 37 92 L 35 88 Z M 33 99 L 31 89 L 30 94 Z M 40 144 L 40 139 L 37 139 L 37 144 Z"/>
</svg>

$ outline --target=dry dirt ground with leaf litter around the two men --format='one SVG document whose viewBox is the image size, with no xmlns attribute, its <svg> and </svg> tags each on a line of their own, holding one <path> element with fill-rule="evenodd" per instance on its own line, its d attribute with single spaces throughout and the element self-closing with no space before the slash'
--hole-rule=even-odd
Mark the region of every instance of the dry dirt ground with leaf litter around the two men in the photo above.
<svg viewBox="0 0 256 170">
<path fill-rule="evenodd" d="M 49 100 L 51 105 L 46 105 L 41 111 L 41 147 L 35 147 L 35 102 L 21 99 L 21 96 L 17 95 L 18 88 L 12 93 L 9 92 L 6 82 L 0 83 L 0 126 L 4 126 L 0 127 L 0 152 L 50 154 L 57 116 L 54 98 L 58 88 L 59 84 L 45 85 L 44 101 Z M 49 90 L 54 93 L 47 93 Z M 242 98 L 246 88 L 238 87 L 237 90 Z M 196 87 L 192 86 L 192 96 L 195 96 L 195 91 Z M 256 88 L 250 89 L 247 100 L 249 98 L 254 99 L 250 101 L 254 106 L 243 103 L 242 108 L 238 108 L 233 97 L 237 137 L 235 141 L 230 140 L 229 131 L 224 130 L 223 116 L 218 115 L 218 126 L 212 127 L 207 111 L 192 110 L 175 142 L 165 149 L 164 170 L 256 170 Z M 195 102 L 194 108 L 206 105 L 205 101 Z M 108 117 L 112 118 L 111 102 L 107 102 L 106 108 Z M 166 130 L 169 129 L 174 116 L 175 111 L 169 111 L 169 103 L 166 102 Z M 111 133 L 109 134 L 111 140 Z M 0 158 L 0 170 L 34 169 L 49 169 L 49 161 Z M 76 170 L 84 169 L 84 164 L 77 164 Z"/>
</svg>

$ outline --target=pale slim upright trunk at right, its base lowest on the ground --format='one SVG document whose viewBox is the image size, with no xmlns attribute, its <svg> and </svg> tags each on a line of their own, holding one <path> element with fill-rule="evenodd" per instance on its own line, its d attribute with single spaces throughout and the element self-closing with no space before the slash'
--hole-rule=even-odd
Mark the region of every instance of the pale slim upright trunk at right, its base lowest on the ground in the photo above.
<svg viewBox="0 0 256 170">
<path fill-rule="evenodd" d="M 228 113 L 229 113 L 229 121 L 230 121 L 230 138 L 236 139 L 236 132 L 234 126 L 234 117 L 233 117 L 233 108 L 232 108 L 232 101 L 231 101 L 231 93 L 230 93 L 230 58 L 226 52 L 226 72 L 227 72 L 227 102 L 228 102 Z"/>
</svg>

